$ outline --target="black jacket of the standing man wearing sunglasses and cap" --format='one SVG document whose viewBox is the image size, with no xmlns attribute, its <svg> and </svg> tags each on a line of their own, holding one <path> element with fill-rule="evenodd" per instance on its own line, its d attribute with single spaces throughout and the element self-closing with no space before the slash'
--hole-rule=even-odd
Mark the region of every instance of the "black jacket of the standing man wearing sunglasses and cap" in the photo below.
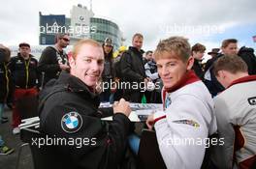
<svg viewBox="0 0 256 169">
<path fill-rule="evenodd" d="M 57 51 L 52 46 L 48 46 L 44 49 L 38 64 L 38 70 L 44 74 L 41 79 L 43 85 L 47 84 L 52 78 L 58 78 L 61 72 L 59 67 L 60 63 L 68 65 L 68 56 L 64 50 Z"/>
</svg>

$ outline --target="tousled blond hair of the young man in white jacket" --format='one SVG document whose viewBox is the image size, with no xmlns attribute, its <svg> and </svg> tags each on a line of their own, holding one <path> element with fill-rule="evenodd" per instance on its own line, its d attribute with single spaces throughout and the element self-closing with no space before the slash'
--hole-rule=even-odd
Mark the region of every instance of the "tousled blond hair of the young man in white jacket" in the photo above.
<svg viewBox="0 0 256 169">
<path fill-rule="evenodd" d="M 178 59 L 186 62 L 190 56 L 191 46 L 187 39 L 183 37 L 170 37 L 166 40 L 161 40 L 154 51 L 155 60 L 163 59 L 164 53 L 176 55 Z"/>
</svg>

